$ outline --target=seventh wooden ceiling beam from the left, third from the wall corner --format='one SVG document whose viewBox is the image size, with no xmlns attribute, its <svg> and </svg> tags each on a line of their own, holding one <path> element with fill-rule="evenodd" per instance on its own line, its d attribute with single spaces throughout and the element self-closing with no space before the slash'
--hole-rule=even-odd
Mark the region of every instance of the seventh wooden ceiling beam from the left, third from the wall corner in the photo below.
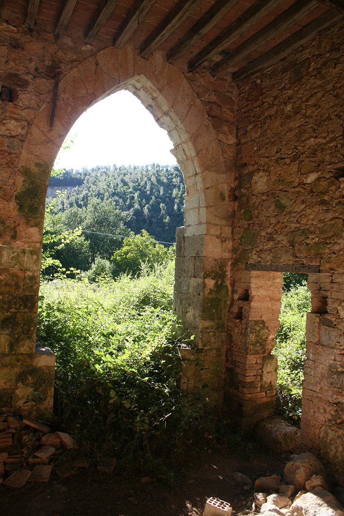
<svg viewBox="0 0 344 516">
<path fill-rule="evenodd" d="M 252 7 L 247 9 L 230 26 L 225 28 L 216 38 L 208 43 L 198 54 L 188 62 L 188 71 L 193 72 L 202 63 L 222 52 L 230 43 L 252 27 L 260 18 L 263 18 L 281 0 L 257 0 Z"/>
</svg>

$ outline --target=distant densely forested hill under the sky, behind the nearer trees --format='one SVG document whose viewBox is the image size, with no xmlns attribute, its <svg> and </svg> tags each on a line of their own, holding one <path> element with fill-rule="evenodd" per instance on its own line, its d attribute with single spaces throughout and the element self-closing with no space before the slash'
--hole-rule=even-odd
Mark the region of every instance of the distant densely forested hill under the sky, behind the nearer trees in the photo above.
<svg viewBox="0 0 344 516">
<path fill-rule="evenodd" d="M 175 228 L 183 225 L 185 193 L 182 172 L 177 166 L 95 167 L 63 171 L 51 178 L 50 187 L 75 187 L 55 203 L 61 221 L 77 227 L 97 199 L 121 212 L 123 223 L 139 234 L 142 229 L 156 240 L 175 241 Z M 92 228 L 88 228 L 92 230 Z M 94 229 L 94 231 L 98 231 Z M 109 231 L 110 232 L 110 231 Z"/>
</svg>

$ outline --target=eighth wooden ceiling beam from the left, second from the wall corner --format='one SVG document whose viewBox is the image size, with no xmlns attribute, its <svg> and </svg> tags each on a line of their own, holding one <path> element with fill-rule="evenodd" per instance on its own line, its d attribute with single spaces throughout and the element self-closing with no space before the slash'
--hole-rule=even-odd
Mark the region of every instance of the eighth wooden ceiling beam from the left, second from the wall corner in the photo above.
<svg viewBox="0 0 344 516">
<path fill-rule="evenodd" d="M 299 2 L 292 4 L 289 9 L 286 9 L 266 27 L 259 30 L 251 38 L 239 45 L 233 52 L 230 52 L 230 54 L 215 63 L 215 65 L 211 67 L 211 73 L 216 74 L 222 72 L 234 65 L 234 63 L 249 55 L 261 44 L 269 41 L 274 36 L 290 27 L 290 25 L 296 23 L 300 18 L 303 18 L 305 14 L 315 9 L 315 7 L 317 7 L 315 0 L 299 0 Z"/>
</svg>

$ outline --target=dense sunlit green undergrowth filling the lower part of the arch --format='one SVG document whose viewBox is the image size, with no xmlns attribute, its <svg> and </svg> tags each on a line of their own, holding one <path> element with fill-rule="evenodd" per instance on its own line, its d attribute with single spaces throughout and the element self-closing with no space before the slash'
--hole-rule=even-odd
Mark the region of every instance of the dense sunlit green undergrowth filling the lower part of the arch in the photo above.
<svg viewBox="0 0 344 516">
<path fill-rule="evenodd" d="M 209 446 L 205 436 L 228 439 L 225 421 L 186 405 L 179 389 L 172 292 L 172 265 L 136 279 L 41 286 L 37 336 L 56 353 L 58 426 L 84 453 L 121 458 L 122 471 L 158 469 L 191 443 Z"/>
</svg>

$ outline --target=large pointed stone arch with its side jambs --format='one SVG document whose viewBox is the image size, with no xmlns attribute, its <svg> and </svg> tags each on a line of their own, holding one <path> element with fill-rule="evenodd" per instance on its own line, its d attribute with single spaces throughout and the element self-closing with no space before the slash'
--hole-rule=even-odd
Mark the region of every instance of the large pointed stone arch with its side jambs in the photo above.
<svg viewBox="0 0 344 516">
<path fill-rule="evenodd" d="M 32 370 L 46 368 L 46 405 L 40 410 L 47 416 L 52 409 L 54 358 L 47 358 L 40 350 L 37 353 L 37 347 L 35 354 L 46 188 L 56 155 L 75 120 L 92 104 L 127 89 L 167 130 L 186 184 L 185 223 L 177 231 L 174 309 L 202 348 L 203 373 L 195 375 L 192 368 L 186 368 L 184 385 L 188 384 L 190 391 L 201 390 L 204 384 L 221 390 L 229 298 L 230 203 L 224 158 L 201 100 L 184 74 L 163 61 L 161 55 L 156 53 L 146 60 L 128 47 L 108 47 L 72 69 L 61 70 L 57 77 L 54 90 L 48 91 L 36 106 L 36 115 L 23 142 L 18 172 L 13 175 L 11 209 L 20 231 L 16 239 L 6 243 L 4 263 L 10 278 L 18 270 L 21 281 L 26 278 L 23 296 L 26 301 L 30 299 L 31 308 L 23 309 L 23 296 L 11 294 L 11 328 L 16 321 L 20 322 L 15 335 L 9 329 L 8 342 L 15 339 L 15 346 L 7 345 L 5 353 L 17 356 L 18 377 L 28 366 Z M 28 389 L 32 387 L 19 386 L 18 378 L 13 377 L 13 408 L 23 411 Z"/>
</svg>

